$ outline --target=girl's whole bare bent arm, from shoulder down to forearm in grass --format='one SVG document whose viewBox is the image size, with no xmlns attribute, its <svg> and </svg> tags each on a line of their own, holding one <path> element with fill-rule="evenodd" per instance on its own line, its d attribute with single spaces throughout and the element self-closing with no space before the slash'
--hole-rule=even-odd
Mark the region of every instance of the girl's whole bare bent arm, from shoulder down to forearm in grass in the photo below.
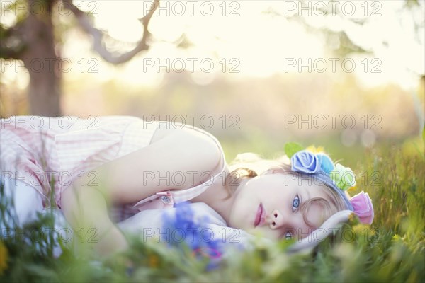
<svg viewBox="0 0 425 283">
<path fill-rule="evenodd" d="M 108 216 L 107 202 L 136 202 L 163 190 L 193 187 L 220 163 L 217 144 L 204 134 L 186 128 L 157 133 L 149 146 L 86 172 L 62 193 L 64 216 L 74 231 L 97 233 L 92 240 L 101 255 L 128 247 Z M 174 174 L 183 180 L 173 182 Z"/>
</svg>

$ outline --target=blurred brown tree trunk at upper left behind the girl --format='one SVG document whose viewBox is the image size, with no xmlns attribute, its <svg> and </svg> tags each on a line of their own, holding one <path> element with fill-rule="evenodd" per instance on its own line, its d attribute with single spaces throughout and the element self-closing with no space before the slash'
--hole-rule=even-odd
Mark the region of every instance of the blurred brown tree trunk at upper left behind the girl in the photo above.
<svg viewBox="0 0 425 283">
<path fill-rule="evenodd" d="M 60 57 L 55 53 L 52 25 L 54 1 L 45 1 L 40 9 L 39 0 L 28 1 L 28 18 L 23 28 L 27 47 L 22 60 L 30 74 L 28 100 L 31 115 L 61 115 Z M 33 5 L 34 4 L 34 5 Z"/>
</svg>

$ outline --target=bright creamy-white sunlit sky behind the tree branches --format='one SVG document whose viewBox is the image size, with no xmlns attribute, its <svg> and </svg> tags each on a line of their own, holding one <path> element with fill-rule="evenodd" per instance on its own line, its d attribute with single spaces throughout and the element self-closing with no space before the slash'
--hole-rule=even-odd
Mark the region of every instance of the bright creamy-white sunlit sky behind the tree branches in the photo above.
<svg viewBox="0 0 425 283">
<path fill-rule="evenodd" d="M 4 8 L 6 1 L 1 2 Z M 412 89 L 416 88 L 418 75 L 425 73 L 424 1 L 419 2 L 421 9 L 411 13 L 402 10 L 404 1 L 339 1 L 327 6 L 329 14 L 325 16 L 320 8 L 328 1 L 307 1 L 310 12 L 302 9 L 298 1 L 161 1 L 149 24 L 153 35 L 150 50 L 119 67 L 103 62 L 90 51 L 90 37 L 81 31 L 69 31 L 62 57 L 70 59 L 74 67 L 65 76 L 86 75 L 79 67 L 81 62 L 85 69 L 93 66 L 90 58 L 98 59 L 95 67 L 98 73 L 91 74 L 98 81 L 114 78 L 145 86 L 157 86 L 162 81 L 166 67 L 157 71 L 158 63 L 169 67 L 170 72 L 193 67 L 193 80 L 200 84 L 210 83 L 219 72 L 239 79 L 309 71 L 308 67 L 299 69 L 299 63 L 310 65 L 313 73 L 333 72 L 334 64 L 336 72 L 353 69 L 366 87 L 392 82 Z M 125 42 L 128 49 L 142 36 L 142 24 L 137 19 L 147 13 L 149 3 L 74 1 L 84 11 L 95 13 L 96 27 Z M 332 13 L 334 8 L 344 16 Z M 334 55 L 327 46 L 339 43 L 326 42 L 321 33 L 307 32 L 305 25 L 286 17 L 294 14 L 301 15 L 314 28 L 344 30 L 353 42 L 373 53 L 348 55 L 345 65 L 341 61 L 332 63 Z M 415 18 L 416 23 L 422 24 L 417 31 Z M 358 25 L 349 19 L 366 21 Z M 62 17 L 62 21 L 70 20 L 72 16 Z M 1 23 L 12 22 L 13 16 L 2 11 Z M 183 33 L 191 45 L 186 49 L 176 48 L 174 42 Z M 239 73 L 230 72 L 232 68 Z M 1 73 L 6 81 L 21 78 L 12 68 L 2 67 Z M 19 81 L 25 87 L 28 78 Z"/>
</svg>

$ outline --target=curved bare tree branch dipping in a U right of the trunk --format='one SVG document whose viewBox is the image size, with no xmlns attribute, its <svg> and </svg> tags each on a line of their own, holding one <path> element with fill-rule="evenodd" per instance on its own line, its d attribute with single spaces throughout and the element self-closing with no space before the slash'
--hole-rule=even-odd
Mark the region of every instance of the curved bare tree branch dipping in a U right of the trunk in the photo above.
<svg viewBox="0 0 425 283">
<path fill-rule="evenodd" d="M 126 52 L 124 54 L 120 54 L 118 56 L 113 55 L 111 52 L 109 52 L 105 45 L 103 45 L 102 39 L 103 39 L 103 32 L 101 30 L 98 30 L 97 28 L 94 28 L 94 25 L 89 21 L 89 14 L 85 13 L 84 11 L 81 11 L 77 6 L 72 4 L 72 0 L 62 0 L 64 3 L 67 3 L 68 8 L 71 8 L 72 13 L 74 13 L 74 16 L 77 17 L 77 20 L 79 21 L 79 24 L 81 25 L 81 28 L 86 31 L 86 33 L 89 33 L 89 35 L 93 36 L 94 39 L 94 45 L 93 48 L 98 52 L 99 55 L 103 59 L 105 59 L 106 62 L 109 62 L 111 64 L 121 64 L 124 62 L 128 62 L 132 57 L 135 57 L 135 55 L 143 50 L 148 50 L 149 45 L 147 45 L 147 40 L 149 39 L 150 33 L 148 31 L 148 25 L 149 21 L 154 15 L 154 12 L 157 10 L 157 7 L 159 5 L 159 0 L 154 0 L 152 2 L 152 6 L 149 10 L 149 13 L 147 13 L 143 18 L 140 18 L 140 21 L 143 24 L 143 37 L 140 40 L 140 42 L 137 43 L 137 46 L 130 50 L 129 52 Z"/>
</svg>

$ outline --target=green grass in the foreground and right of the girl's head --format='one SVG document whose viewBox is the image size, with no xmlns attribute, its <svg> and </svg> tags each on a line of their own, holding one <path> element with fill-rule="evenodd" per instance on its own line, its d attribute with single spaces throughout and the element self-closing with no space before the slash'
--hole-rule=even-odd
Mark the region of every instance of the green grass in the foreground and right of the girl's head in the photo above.
<svg viewBox="0 0 425 283">
<path fill-rule="evenodd" d="M 190 251 L 170 250 L 158 243 L 132 239 L 127 253 L 96 258 L 65 248 L 52 258 L 48 237 L 35 241 L 4 237 L 1 282 L 424 282 L 425 161 L 423 139 L 358 149 L 358 191 L 373 199 L 371 226 L 356 220 L 313 253 L 287 255 L 288 243 L 258 246 L 234 253 L 219 268 L 205 271 L 206 260 Z M 276 150 L 276 149 L 273 149 Z M 230 149 L 232 151 L 232 149 Z M 335 149 L 344 152 L 343 149 Z M 336 155 L 336 154 L 335 154 Z M 2 202 L 1 212 L 6 206 Z M 30 228 L 48 227 L 49 215 Z M 28 227 L 27 227 L 28 228 Z M 4 227 L 2 227 L 4 229 Z M 125 272 L 130 258 L 135 267 Z M 6 267 L 4 266 L 6 262 Z"/>
</svg>

